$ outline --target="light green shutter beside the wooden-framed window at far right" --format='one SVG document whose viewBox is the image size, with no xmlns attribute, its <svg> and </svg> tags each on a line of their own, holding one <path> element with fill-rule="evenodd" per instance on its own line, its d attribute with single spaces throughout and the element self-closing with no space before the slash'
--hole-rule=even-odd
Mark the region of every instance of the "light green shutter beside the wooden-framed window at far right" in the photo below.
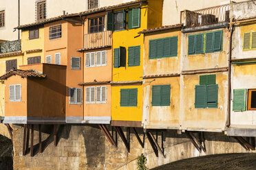
<svg viewBox="0 0 256 170">
<path fill-rule="evenodd" d="M 246 89 L 233 90 L 233 111 L 246 110 Z"/>
</svg>

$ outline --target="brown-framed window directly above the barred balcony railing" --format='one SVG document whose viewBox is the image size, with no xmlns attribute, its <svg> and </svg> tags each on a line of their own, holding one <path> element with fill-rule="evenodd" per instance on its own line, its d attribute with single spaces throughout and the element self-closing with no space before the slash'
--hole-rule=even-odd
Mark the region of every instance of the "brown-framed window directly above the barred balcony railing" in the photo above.
<svg viewBox="0 0 256 170">
<path fill-rule="evenodd" d="M 89 33 L 105 31 L 105 16 L 100 16 L 95 19 L 89 19 Z"/>
</svg>

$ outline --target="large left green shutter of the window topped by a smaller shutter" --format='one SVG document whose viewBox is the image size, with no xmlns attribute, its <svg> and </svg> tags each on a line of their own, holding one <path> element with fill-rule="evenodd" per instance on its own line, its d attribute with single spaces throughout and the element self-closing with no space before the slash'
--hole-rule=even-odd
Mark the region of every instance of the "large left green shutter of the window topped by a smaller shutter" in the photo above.
<svg viewBox="0 0 256 170">
<path fill-rule="evenodd" d="M 206 108 L 206 85 L 195 86 L 195 108 Z"/>
</svg>

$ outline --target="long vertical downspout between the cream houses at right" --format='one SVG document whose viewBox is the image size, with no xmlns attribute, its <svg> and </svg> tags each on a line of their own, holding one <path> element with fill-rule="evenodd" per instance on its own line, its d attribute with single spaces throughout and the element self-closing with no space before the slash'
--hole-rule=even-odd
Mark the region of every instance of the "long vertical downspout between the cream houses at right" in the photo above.
<svg viewBox="0 0 256 170">
<path fill-rule="evenodd" d="M 233 18 L 231 19 L 231 23 L 229 25 L 229 47 L 228 47 L 228 121 L 226 123 L 226 127 L 230 127 L 231 125 L 231 52 L 232 52 L 232 34 L 233 34 Z"/>
</svg>

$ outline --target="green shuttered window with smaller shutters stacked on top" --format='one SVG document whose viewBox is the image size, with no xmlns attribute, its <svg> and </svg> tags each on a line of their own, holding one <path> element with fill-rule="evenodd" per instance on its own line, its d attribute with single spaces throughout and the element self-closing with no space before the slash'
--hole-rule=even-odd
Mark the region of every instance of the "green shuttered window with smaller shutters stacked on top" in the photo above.
<svg viewBox="0 0 256 170">
<path fill-rule="evenodd" d="M 195 108 L 217 108 L 218 85 L 216 75 L 200 75 L 200 85 L 195 86 Z"/>
</svg>

